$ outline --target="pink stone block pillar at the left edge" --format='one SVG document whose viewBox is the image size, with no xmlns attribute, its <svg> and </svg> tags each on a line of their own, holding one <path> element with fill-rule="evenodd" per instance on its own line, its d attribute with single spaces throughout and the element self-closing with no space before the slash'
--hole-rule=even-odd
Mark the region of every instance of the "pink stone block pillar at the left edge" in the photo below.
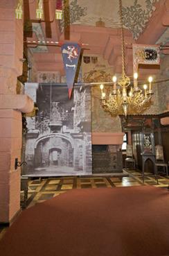
<svg viewBox="0 0 169 256">
<path fill-rule="evenodd" d="M 10 223 L 20 210 L 21 112 L 33 101 L 17 95 L 22 74 L 23 21 L 15 19 L 15 0 L 0 1 L 0 223 Z"/>
</svg>

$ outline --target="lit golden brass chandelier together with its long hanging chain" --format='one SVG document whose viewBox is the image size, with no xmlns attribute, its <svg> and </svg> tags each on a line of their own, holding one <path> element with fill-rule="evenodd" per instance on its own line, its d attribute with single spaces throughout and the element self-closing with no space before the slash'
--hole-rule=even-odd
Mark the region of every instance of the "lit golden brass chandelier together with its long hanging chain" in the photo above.
<svg viewBox="0 0 169 256">
<path fill-rule="evenodd" d="M 118 78 L 117 84 L 119 88 L 116 88 L 116 76 L 113 76 L 114 82 L 112 91 L 109 94 L 104 92 L 104 85 L 100 85 L 101 89 L 101 101 L 105 111 L 109 112 L 113 116 L 118 114 L 140 114 L 144 112 L 152 104 L 152 76 L 148 78 L 148 85 L 143 85 L 143 89 L 138 86 L 138 74 L 134 73 L 133 86 L 130 85 L 130 78 L 125 73 L 125 40 L 123 31 L 123 13 L 122 13 L 122 0 L 119 0 L 119 14 L 121 22 L 121 51 L 122 51 L 122 74 Z"/>
</svg>

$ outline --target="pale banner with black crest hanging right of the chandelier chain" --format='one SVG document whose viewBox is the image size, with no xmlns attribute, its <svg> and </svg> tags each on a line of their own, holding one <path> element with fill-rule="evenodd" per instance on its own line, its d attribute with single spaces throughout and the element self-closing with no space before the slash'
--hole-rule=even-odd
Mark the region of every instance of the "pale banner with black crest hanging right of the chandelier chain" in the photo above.
<svg viewBox="0 0 169 256">
<path fill-rule="evenodd" d="M 158 45 L 132 44 L 133 71 L 138 72 L 139 64 L 159 65 L 160 49 Z"/>
</svg>

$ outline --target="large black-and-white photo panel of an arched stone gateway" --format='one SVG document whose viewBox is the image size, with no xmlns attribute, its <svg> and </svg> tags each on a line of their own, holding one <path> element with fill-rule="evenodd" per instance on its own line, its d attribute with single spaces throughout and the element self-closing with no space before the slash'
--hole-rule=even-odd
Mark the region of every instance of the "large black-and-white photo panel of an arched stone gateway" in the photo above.
<svg viewBox="0 0 169 256">
<path fill-rule="evenodd" d="M 75 87 L 71 99 L 64 85 L 26 83 L 38 107 L 26 117 L 26 176 L 82 176 L 92 172 L 91 90 Z"/>
</svg>

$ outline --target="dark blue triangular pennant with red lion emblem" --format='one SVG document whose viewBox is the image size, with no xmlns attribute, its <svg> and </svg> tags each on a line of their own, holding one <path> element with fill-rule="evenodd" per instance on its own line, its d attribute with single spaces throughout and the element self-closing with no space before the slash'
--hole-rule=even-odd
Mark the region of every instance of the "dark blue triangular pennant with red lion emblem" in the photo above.
<svg viewBox="0 0 169 256">
<path fill-rule="evenodd" d="M 78 66 L 81 47 L 77 43 L 62 44 L 62 58 L 64 62 L 64 69 L 66 72 L 66 83 L 69 89 L 69 99 L 71 98 L 71 91 L 75 80 L 75 72 Z"/>
</svg>

